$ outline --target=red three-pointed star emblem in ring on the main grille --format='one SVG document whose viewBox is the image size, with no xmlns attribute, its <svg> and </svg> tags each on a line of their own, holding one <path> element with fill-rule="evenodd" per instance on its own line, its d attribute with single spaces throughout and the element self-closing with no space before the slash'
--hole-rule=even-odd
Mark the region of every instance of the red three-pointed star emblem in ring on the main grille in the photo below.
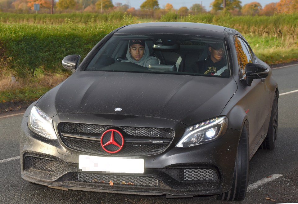
<svg viewBox="0 0 298 204">
<path fill-rule="evenodd" d="M 100 144 L 102 145 L 102 148 L 106 152 L 116 153 L 122 149 L 124 144 L 124 139 L 122 134 L 119 131 L 110 129 L 102 133 Z"/>
</svg>

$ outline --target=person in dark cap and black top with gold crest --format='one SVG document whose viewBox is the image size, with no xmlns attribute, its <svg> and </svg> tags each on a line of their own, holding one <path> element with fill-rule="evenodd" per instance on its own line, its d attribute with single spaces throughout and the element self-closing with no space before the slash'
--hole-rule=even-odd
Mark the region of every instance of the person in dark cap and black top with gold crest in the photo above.
<svg viewBox="0 0 298 204">
<path fill-rule="evenodd" d="M 224 60 L 224 47 L 221 42 L 212 43 L 208 46 L 210 55 L 193 66 L 194 73 L 228 76 L 227 63 Z"/>
</svg>

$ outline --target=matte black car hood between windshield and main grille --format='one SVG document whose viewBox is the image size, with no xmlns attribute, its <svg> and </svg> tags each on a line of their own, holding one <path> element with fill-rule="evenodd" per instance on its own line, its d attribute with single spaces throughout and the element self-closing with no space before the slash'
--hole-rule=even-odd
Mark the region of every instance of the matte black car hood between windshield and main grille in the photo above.
<svg viewBox="0 0 298 204">
<path fill-rule="evenodd" d="M 233 79 L 162 73 L 77 71 L 36 104 L 50 117 L 105 113 L 192 125 L 219 116 L 237 90 Z M 116 112 L 115 108 L 121 108 Z"/>
</svg>

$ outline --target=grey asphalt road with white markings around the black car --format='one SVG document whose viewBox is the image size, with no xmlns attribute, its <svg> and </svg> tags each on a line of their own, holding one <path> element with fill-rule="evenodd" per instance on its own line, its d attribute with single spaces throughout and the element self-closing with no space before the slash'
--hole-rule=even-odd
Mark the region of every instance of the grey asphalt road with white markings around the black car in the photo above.
<svg viewBox="0 0 298 204">
<path fill-rule="evenodd" d="M 282 94 L 278 101 L 277 145 L 273 151 L 259 149 L 251 159 L 249 191 L 242 202 L 222 202 L 212 196 L 167 199 L 165 196 L 63 191 L 29 183 L 20 176 L 18 159 L 22 115 L 0 115 L 0 203 L 297 203 L 298 92 L 290 92 L 298 90 L 297 70 L 298 65 L 273 69 Z"/>
</svg>

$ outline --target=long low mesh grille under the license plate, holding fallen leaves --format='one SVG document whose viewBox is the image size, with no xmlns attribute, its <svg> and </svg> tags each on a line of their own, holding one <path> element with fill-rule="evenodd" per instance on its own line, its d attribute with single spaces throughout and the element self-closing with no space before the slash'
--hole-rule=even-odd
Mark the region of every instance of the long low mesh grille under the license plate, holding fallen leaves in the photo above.
<svg viewBox="0 0 298 204">
<path fill-rule="evenodd" d="M 107 175 L 95 173 L 70 172 L 63 175 L 57 181 L 70 181 L 79 183 L 92 183 L 97 185 L 110 186 L 142 186 L 142 187 L 165 187 L 166 185 L 149 176 L 131 176 L 131 175 Z"/>
</svg>

